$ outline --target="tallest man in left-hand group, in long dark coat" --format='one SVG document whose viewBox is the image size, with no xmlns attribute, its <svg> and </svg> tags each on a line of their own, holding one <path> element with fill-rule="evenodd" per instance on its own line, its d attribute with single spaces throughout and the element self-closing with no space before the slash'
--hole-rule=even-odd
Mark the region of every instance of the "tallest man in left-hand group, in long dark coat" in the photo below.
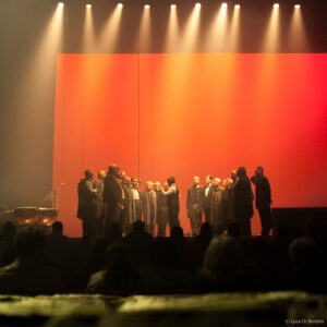
<svg viewBox="0 0 327 327">
<path fill-rule="evenodd" d="M 124 209 L 125 194 L 120 182 L 120 170 L 116 165 L 109 166 L 104 185 L 104 202 L 107 204 L 106 226 L 111 222 L 121 225 L 121 211 Z"/>
</svg>

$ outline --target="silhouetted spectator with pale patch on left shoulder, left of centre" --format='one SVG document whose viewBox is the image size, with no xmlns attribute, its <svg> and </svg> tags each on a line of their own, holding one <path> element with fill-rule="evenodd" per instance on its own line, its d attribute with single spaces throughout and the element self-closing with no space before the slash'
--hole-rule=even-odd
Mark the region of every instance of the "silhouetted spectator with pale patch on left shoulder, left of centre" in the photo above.
<svg viewBox="0 0 327 327">
<path fill-rule="evenodd" d="M 117 242 L 106 250 L 106 268 L 90 276 L 89 291 L 130 293 L 140 287 L 140 276 L 131 269 L 129 247 Z"/>
</svg>

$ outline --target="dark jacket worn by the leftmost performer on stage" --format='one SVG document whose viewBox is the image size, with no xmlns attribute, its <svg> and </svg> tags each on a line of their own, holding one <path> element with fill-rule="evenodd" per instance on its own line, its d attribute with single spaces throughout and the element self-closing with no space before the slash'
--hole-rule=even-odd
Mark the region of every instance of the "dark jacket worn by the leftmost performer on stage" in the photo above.
<svg viewBox="0 0 327 327">
<path fill-rule="evenodd" d="M 82 179 L 77 185 L 78 207 L 77 218 L 87 219 L 95 216 L 94 199 L 97 196 L 93 192 L 93 182 Z"/>
</svg>

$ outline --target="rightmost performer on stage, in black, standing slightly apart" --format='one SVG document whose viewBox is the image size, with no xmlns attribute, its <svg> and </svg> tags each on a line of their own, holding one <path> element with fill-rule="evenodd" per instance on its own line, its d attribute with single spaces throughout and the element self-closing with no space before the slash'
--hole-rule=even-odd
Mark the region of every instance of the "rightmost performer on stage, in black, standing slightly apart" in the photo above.
<svg viewBox="0 0 327 327">
<path fill-rule="evenodd" d="M 258 209 L 262 221 L 262 235 L 269 235 L 272 228 L 271 218 L 271 189 L 268 179 L 264 175 L 264 168 L 257 167 L 255 175 L 251 178 L 255 185 L 255 206 Z"/>
</svg>

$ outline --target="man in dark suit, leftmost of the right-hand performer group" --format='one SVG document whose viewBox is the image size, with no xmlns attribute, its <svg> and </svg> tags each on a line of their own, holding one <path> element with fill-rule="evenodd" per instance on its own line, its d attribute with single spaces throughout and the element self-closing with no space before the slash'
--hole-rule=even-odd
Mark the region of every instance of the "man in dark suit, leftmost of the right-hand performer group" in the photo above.
<svg viewBox="0 0 327 327">
<path fill-rule="evenodd" d="M 193 180 L 193 186 L 187 190 L 186 209 L 191 222 L 192 234 L 195 237 L 199 234 L 204 197 L 203 187 L 199 185 L 199 177 L 195 175 Z"/>
</svg>

